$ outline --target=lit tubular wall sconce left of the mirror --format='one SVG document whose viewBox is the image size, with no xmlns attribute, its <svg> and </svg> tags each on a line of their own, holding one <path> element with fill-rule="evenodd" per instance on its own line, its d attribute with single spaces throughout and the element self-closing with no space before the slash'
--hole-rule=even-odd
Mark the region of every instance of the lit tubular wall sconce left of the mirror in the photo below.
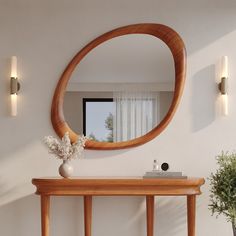
<svg viewBox="0 0 236 236">
<path fill-rule="evenodd" d="M 20 90 L 20 84 L 17 79 L 17 58 L 16 56 L 11 57 L 11 115 L 17 115 L 17 93 Z"/>
</svg>

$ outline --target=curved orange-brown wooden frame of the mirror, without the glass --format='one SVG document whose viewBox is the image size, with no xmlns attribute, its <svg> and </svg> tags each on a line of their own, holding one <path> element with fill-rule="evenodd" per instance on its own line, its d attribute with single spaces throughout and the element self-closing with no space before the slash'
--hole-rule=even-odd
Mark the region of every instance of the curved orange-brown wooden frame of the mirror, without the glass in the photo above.
<svg viewBox="0 0 236 236">
<path fill-rule="evenodd" d="M 93 48 L 97 47 L 98 45 L 102 44 L 107 40 L 128 34 L 152 35 L 162 40 L 169 47 L 173 55 L 174 66 L 175 66 L 175 89 L 171 106 L 164 119 L 154 129 L 152 129 L 150 132 L 141 137 L 129 141 L 114 142 L 114 143 L 97 142 L 89 140 L 86 142 L 85 148 L 97 149 L 97 150 L 114 150 L 114 149 L 135 147 L 138 145 L 142 145 L 155 138 L 169 124 L 180 102 L 180 98 L 184 87 L 185 74 L 186 74 L 186 50 L 184 42 L 178 35 L 178 33 L 176 33 L 173 29 L 169 28 L 168 26 L 161 24 L 148 24 L 148 23 L 135 24 L 135 25 L 120 27 L 99 36 L 98 38 L 94 39 L 92 42 L 87 44 L 82 50 L 80 50 L 68 64 L 57 84 L 51 108 L 52 125 L 59 137 L 62 137 L 65 134 L 65 132 L 69 132 L 72 142 L 75 142 L 78 137 L 78 134 L 76 134 L 67 124 L 63 114 L 63 101 L 66 92 L 66 87 L 76 66 Z"/>
</svg>

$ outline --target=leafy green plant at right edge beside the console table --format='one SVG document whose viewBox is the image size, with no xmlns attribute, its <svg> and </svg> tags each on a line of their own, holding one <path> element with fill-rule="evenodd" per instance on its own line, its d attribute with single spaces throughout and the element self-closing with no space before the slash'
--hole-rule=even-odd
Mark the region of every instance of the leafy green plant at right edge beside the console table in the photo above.
<svg viewBox="0 0 236 236">
<path fill-rule="evenodd" d="M 236 153 L 224 153 L 216 157 L 219 168 L 211 173 L 210 205 L 212 214 L 223 214 L 232 223 L 236 236 Z"/>
</svg>

